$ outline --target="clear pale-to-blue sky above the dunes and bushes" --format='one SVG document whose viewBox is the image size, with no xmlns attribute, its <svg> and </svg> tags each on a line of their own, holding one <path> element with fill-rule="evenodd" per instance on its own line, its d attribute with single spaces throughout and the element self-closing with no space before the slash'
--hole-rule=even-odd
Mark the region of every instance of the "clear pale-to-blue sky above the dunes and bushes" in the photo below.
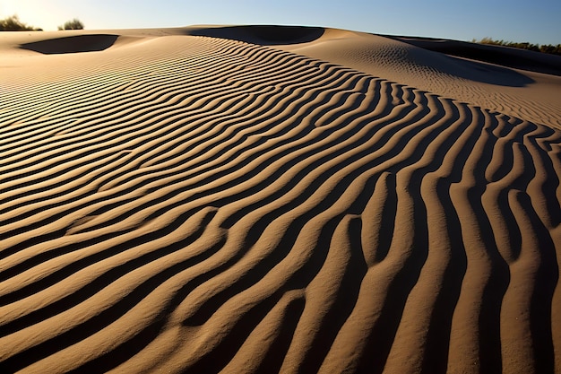
<svg viewBox="0 0 561 374">
<path fill-rule="evenodd" d="M 74 17 L 86 29 L 191 24 L 298 24 L 448 39 L 491 37 L 561 43 L 561 0 L 0 0 L 0 18 L 56 30 Z"/>
</svg>

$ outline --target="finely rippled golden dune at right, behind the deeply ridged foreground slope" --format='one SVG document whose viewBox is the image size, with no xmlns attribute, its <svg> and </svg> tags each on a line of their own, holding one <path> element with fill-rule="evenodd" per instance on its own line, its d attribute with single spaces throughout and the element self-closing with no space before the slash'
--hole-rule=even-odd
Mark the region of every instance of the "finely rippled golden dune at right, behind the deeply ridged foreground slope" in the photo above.
<svg viewBox="0 0 561 374">
<path fill-rule="evenodd" d="M 490 62 L 503 63 L 497 65 L 465 58 L 479 57 L 482 53 L 487 57 L 488 52 L 479 48 L 488 46 L 454 42 L 450 47 L 450 43 L 326 30 L 317 42 L 280 48 L 561 129 L 561 77 L 557 76 L 559 69 L 553 67 L 561 66 L 561 57 L 527 57 L 524 52 L 540 54 L 492 48 Z M 516 63 L 517 60 L 520 62 Z M 521 70 L 534 65 L 533 70 L 538 73 Z"/>
</svg>

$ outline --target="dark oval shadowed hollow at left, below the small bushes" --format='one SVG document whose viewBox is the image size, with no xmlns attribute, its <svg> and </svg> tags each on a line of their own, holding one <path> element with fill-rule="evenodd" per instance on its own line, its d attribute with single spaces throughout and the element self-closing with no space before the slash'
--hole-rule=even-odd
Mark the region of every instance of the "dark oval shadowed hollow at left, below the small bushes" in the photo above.
<svg viewBox="0 0 561 374">
<path fill-rule="evenodd" d="M 77 35 L 26 43 L 22 44 L 20 48 L 29 49 L 44 55 L 97 52 L 111 47 L 117 38 L 118 35 L 108 34 Z"/>
</svg>

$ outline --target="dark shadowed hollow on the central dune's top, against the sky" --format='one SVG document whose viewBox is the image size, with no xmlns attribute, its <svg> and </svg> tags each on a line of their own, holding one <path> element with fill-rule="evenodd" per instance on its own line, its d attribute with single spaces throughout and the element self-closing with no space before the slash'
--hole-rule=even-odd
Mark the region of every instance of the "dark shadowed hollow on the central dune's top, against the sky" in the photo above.
<svg viewBox="0 0 561 374">
<path fill-rule="evenodd" d="M 305 26 L 230 26 L 190 31 L 190 35 L 234 39 L 262 46 L 307 43 L 324 35 L 324 28 Z"/>
</svg>

